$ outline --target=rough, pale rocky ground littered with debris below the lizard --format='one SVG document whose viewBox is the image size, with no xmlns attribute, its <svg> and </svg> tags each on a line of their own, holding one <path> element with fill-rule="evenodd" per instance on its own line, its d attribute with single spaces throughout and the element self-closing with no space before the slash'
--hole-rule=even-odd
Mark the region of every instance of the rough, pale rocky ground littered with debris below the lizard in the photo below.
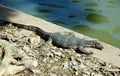
<svg viewBox="0 0 120 76">
<path fill-rule="evenodd" d="M 0 76 L 119 76 L 120 68 L 0 21 Z M 7 54 L 9 52 L 9 54 Z M 9 56 L 8 56 L 9 55 Z"/>
</svg>

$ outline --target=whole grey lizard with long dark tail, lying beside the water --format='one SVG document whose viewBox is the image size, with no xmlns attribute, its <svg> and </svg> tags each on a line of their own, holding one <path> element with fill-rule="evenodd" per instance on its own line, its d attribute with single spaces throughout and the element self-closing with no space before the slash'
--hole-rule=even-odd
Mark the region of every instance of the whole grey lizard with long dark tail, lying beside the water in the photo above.
<svg viewBox="0 0 120 76">
<path fill-rule="evenodd" d="M 73 33 L 70 33 L 70 32 L 50 33 L 50 32 L 43 31 L 41 28 L 37 26 L 23 25 L 23 24 L 8 22 L 8 21 L 4 21 L 4 22 L 12 23 L 13 26 L 16 26 L 18 28 L 24 28 L 26 30 L 34 31 L 36 34 L 38 34 L 39 36 L 41 36 L 46 40 L 45 44 L 47 44 L 49 41 L 52 40 L 52 44 L 57 47 L 72 48 L 74 50 L 77 50 L 77 52 L 81 52 L 87 55 L 93 54 L 93 52 L 85 50 L 85 47 L 92 47 L 100 50 L 103 49 L 103 46 L 98 40 L 81 39 L 76 37 Z"/>
</svg>

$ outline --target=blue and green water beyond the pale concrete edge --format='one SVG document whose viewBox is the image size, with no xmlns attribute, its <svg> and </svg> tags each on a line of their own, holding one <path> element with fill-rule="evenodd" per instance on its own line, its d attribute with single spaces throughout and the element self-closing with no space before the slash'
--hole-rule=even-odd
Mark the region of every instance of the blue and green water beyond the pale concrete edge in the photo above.
<svg viewBox="0 0 120 76">
<path fill-rule="evenodd" d="M 120 48 L 120 0 L 0 0 L 0 3 Z"/>
</svg>

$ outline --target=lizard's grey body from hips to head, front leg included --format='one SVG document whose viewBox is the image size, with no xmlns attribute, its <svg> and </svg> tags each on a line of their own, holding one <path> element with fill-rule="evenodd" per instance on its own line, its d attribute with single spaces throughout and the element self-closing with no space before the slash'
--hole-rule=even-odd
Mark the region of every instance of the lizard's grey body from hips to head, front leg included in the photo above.
<svg viewBox="0 0 120 76">
<path fill-rule="evenodd" d="M 78 49 L 79 52 L 87 55 L 92 54 L 93 52 L 85 50 L 85 47 L 92 47 L 100 50 L 103 49 L 103 46 L 97 40 L 80 39 L 71 33 L 52 33 L 50 34 L 50 38 L 56 46 L 73 48 L 75 50 Z"/>
</svg>

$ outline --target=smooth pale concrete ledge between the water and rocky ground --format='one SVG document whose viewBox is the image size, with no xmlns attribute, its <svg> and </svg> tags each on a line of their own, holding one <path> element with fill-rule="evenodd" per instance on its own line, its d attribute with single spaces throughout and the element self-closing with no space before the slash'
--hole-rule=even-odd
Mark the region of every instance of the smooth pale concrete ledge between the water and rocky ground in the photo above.
<svg viewBox="0 0 120 76">
<path fill-rule="evenodd" d="M 19 24 L 37 26 L 47 32 L 66 32 L 66 31 L 73 32 L 77 37 L 88 38 L 87 36 L 84 36 L 80 33 L 76 33 L 69 29 L 57 26 L 53 23 L 22 13 L 20 11 L 5 7 L 3 5 L 0 5 L 0 11 L 1 11 L 0 19 L 2 20 L 19 23 Z M 92 56 L 120 67 L 119 65 L 120 49 L 103 42 L 102 42 L 102 45 L 104 46 L 104 49 L 102 51 L 90 48 L 90 50 L 93 50 L 94 52 Z"/>
</svg>

